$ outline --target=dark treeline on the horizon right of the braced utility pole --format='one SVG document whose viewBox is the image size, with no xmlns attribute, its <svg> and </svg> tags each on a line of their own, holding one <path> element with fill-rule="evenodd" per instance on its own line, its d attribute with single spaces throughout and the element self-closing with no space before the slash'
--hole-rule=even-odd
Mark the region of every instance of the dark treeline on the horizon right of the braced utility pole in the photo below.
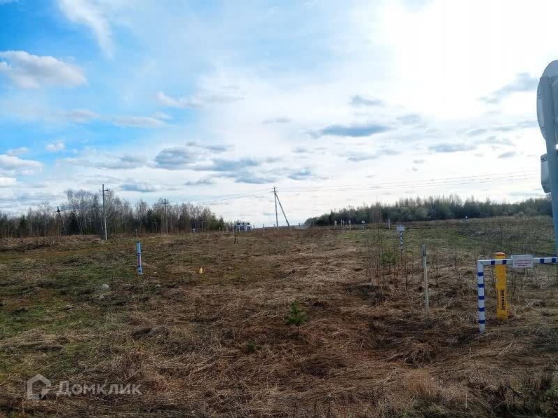
<svg viewBox="0 0 558 418">
<path fill-rule="evenodd" d="M 352 224 L 375 222 L 413 222 L 435 221 L 444 219 L 495 217 L 507 215 L 548 215 L 552 216 L 552 204 L 548 196 L 526 199 L 516 203 L 475 200 L 474 197 L 463 200 L 460 196 L 429 196 L 404 198 L 395 203 L 363 203 L 356 208 L 347 206 L 331 210 L 317 217 L 306 219 L 306 225 L 326 226 L 335 221 L 351 221 Z"/>
</svg>

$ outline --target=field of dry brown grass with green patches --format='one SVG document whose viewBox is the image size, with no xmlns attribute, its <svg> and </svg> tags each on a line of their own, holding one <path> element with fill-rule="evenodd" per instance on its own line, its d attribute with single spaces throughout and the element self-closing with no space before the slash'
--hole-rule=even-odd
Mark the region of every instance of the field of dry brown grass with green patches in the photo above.
<svg viewBox="0 0 558 418">
<path fill-rule="evenodd" d="M 141 277 L 135 238 L 4 241 L 0 416 L 558 416 L 556 266 L 508 270 L 506 322 L 487 268 L 476 324 L 476 259 L 552 254 L 550 219 L 406 226 L 402 257 L 384 225 L 151 235 Z M 27 399 L 37 373 L 142 394 Z"/>
</svg>

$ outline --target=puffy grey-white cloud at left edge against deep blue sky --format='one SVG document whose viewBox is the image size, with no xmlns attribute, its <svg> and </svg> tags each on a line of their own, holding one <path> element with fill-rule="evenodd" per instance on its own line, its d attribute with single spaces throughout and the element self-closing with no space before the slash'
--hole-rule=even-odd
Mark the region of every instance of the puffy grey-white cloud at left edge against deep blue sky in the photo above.
<svg viewBox="0 0 558 418">
<path fill-rule="evenodd" d="M 0 52 L 0 73 L 21 88 L 73 87 L 87 82 L 82 69 L 76 65 L 25 51 Z"/>
</svg>

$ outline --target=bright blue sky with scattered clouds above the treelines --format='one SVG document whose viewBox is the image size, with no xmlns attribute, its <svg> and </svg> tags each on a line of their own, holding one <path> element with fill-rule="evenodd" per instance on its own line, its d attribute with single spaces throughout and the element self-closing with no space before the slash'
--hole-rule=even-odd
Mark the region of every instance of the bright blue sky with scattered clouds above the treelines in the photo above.
<svg viewBox="0 0 558 418">
<path fill-rule="evenodd" d="M 557 1 L 0 0 L 0 211 L 543 196 Z M 280 220 L 280 224 L 284 224 Z"/>
</svg>

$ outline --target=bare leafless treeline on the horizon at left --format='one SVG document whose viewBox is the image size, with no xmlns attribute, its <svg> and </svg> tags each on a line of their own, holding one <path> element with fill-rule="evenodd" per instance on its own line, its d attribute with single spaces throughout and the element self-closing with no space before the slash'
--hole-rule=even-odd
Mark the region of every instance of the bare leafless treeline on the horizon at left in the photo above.
<svg viewBox="0 0 558 418">
<path fill-rule="evenodd" d="M 86 190 L 67 190 L 66 202 L 56 207 L 43 202 L 29 208 L 26 214 L 10 215 L 0 212 L 0 238 L 46 237 L 55 235 L 100 235 L 103 229 L 103 197 Z M 116 196 L 113 190 L 105 192 L 108 235 L 137 233 L 169 233 L 218 230 L 226 223 L 209 208 L 192 203 L 165 205 L 163 199 L 149 205 L 140 199 L 132 204 Z"/>
</svg>

